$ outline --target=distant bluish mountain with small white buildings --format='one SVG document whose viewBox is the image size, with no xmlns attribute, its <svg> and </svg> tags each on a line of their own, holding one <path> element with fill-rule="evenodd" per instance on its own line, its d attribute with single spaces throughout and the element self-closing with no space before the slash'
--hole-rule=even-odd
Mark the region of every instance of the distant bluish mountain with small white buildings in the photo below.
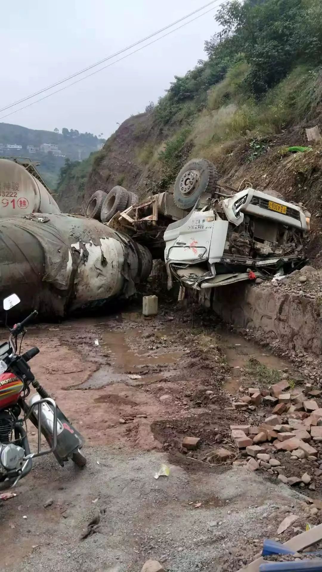
<svg viewBox="0 0 322 572">
<path fill-rule="evenodd" d="M 39 163 L 37 168 L 52 189 L 57 186 L 66 158 L 83 161 L 104 142 L 93 133 L 79 133 L 77 129 L 63 128 L 59 133 L 58 129 L 45 131 L 0 123 L 0 157 L 29 157 Z"/>
</svg>

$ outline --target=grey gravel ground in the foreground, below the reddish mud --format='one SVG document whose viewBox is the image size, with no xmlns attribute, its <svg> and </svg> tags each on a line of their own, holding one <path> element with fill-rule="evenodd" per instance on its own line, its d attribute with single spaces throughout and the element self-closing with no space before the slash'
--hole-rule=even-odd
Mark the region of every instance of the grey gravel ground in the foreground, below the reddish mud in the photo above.
<svg viewBox="0 0 322 572">
<path fill-rule="evenodd" d="M 188 474 L 160 453 L 86 452 L 84 471 L 61 469 L 51 456 L 38 461 L 18 496 L 0 507 L 2 542 L 13 543 L 15 559 L 3 566 L 2 558 L 1 570 L 134 572 L 148 558 L 169 572 L 217 570 L 219 561 L 237 570 L 257 553 L 253 539 L 276 534 L 269 514 L 299 505 L 292 490 L 244 468 Z M 155 480 L 162 462 L 170 476 Z M 48 482 L 53 504 L 45 509 Z M 80 541 L 96 507 L 105 509 L 100 531 Z"/>
</svg>

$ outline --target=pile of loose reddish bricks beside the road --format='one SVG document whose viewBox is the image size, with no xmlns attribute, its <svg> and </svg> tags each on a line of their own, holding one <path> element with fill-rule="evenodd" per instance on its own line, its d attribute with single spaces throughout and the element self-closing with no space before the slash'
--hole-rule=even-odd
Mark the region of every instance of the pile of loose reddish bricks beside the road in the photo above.
<svg viewBox="0 0 322 572">
<path fill-rule="evenodd" d="M 283 379 L 269 390 L 249 388 L 248 395 L 234 403 L 237 410 L 250 410 L 261 404 L 273 406 L 269 415 L 258 427 L 243 424 L 231 425 L 231 439 L 246 459 L 234 461 L 234 465 L 245 464 L 249 470 L 264 468 L 271 475 L 278 475 L 290 485 L 309 485 L 315 490 L 314 481 L 307 472 L 299 477 L 284 475 L 282 463 L 276 454 L 284 451 L 290 460 L 312 461 L 315 476 L 322 475 L 322 408 L 317 399 L 322 391 L 313 390 L 307 384 L 304 391 L 290 390 L 288 380 Z M 245 451 L 244 451 L 245 450 Z"/>
</svg>

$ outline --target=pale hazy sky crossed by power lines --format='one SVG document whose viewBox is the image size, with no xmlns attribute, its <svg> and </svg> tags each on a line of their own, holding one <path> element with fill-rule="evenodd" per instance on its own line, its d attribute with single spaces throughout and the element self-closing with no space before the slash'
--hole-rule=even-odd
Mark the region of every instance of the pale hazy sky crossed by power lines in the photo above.
<svg viewBox="0 0 322 572">
<path fill-rule="evenodd" d="M 206 3 L 2 2 L 0 108 L 115 53 Z M 199 58 L 206 57 L 203 43 L 217 29 L 215 10 L 61 93 L 3 119 L 12 109 L 0 113 L 0 121 L 33 129 L 57 127 L 61 131 L 67 127 L 103 132 L 108 137 L 117 122 L 144 111 L 149 101 L 158 101 L 174 75 L 183 75 Z"/>
</svg>

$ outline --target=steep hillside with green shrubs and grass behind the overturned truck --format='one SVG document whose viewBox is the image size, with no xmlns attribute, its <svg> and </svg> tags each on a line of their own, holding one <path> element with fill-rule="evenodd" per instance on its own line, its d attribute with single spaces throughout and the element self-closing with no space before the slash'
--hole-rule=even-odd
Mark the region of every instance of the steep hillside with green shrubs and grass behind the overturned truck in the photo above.
<svg viewBox="0 0 322 572">
<path fill-rule="evenodd" d="M 222 184 L 274 188 L 304 202 L 312 212 L 309 253 L 319 259 L 321 144 L 288 148 L 308 146 L 305 128 L 322 132 L 321 18 L 317 0 L 223 5 L 222 33 L 206 42 L 209 58 L 176 77 L 154 109 L 126 120 L 81 180 L 79 168 L 69 170 L 58 188 L 61 208 L 80 211 L 95 190 L 116 184 L 140 197 L 171 188 L 184 162 L 205 157 Z"/>
</svg>

